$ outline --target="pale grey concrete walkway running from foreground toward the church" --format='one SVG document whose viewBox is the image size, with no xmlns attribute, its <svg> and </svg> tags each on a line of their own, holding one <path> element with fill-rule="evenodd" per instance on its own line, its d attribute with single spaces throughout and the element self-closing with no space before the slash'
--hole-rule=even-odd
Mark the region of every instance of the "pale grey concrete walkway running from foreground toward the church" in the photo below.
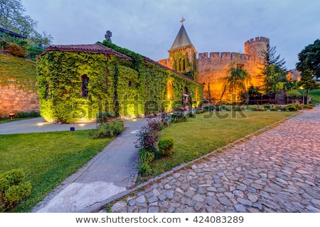
<svg viewBox="0 0 320 227">
<path fill-rule="evenodd" d="M 65 179 L 33 212 L 78 212 L 124 192 L 137 179 L 137 132 L 146 119 L 125 121 L 126 129 L 90 162 Z M 69 128 L 69 125 L 60 125 Z M 53 126 L 55 127 L 55 126 Z M 89 126 L 87 126 L 89 127 Z M 55 128 L 57 129 L 57 128 Z"/>
</svg>

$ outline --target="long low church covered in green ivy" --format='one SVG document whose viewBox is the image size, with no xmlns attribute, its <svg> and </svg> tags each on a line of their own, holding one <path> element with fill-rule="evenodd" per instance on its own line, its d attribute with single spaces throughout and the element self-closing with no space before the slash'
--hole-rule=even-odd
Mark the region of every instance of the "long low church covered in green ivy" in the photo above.
<svg viewBox="0 0 320 227">
<path fill-rule="evenodd" d="M 51 45 L 37 57 L 41 116 L 46 121 L 91 121 L 100 112 L 143 117 L 193 105 L 203 85 L 105 40 Z"/>
</svg>

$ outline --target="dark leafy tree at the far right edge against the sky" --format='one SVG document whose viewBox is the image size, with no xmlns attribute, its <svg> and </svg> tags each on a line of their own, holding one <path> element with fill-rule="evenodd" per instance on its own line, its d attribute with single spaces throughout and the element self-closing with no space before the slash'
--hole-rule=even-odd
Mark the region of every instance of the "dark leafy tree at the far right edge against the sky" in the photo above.
<svg viewBox="0 0 320 227">
<path fill-rule="evenodd" d="M 320 78 L 320 40 L 317 39 L 313 44 L 307 45 L 298 55 L 299 62 L 296 67 L 300 72 L 312 70 L 314 77 Z"/>
</svg>

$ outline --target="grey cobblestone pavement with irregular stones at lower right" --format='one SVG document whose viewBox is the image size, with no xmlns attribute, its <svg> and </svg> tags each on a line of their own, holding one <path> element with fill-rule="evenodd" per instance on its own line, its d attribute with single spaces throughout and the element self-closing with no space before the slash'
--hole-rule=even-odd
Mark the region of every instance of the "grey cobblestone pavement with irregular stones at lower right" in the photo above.
<svg viewBox="0 0 320 227">
<path fill-rule="evenodd" d="M 114 212 L 320 212 L 320 106 L 113 204 Z"/>
</svg>

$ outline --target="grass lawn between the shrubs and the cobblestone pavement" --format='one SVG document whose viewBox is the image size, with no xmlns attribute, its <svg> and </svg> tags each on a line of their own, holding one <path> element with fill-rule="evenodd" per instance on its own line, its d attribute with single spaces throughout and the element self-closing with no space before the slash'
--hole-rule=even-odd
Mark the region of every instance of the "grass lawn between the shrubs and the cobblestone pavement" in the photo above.
<svg viewBox="0 0 320 227">
<path fill-rule="evenodd" d="M 214 113 L 214 112 L 210 112 Z M 224 112 L 231 114 L 231 112 Z M 237 118 L 204 118 L 208 112 L 189 118 L 184 123 L 173 123 L 164 131 L 162 137 L 172 137 L 175 140 L 174 154 L 155 160 L 151 168 L 156 173 L 166 172 L 198 157 L 206 155 L 217 148 L 221 148 L 238 138 L 253 133 L 276 121 L 293 114 L 289 111 L 244 111 L 247 118 L 237 114 Z"/>
</svg>

